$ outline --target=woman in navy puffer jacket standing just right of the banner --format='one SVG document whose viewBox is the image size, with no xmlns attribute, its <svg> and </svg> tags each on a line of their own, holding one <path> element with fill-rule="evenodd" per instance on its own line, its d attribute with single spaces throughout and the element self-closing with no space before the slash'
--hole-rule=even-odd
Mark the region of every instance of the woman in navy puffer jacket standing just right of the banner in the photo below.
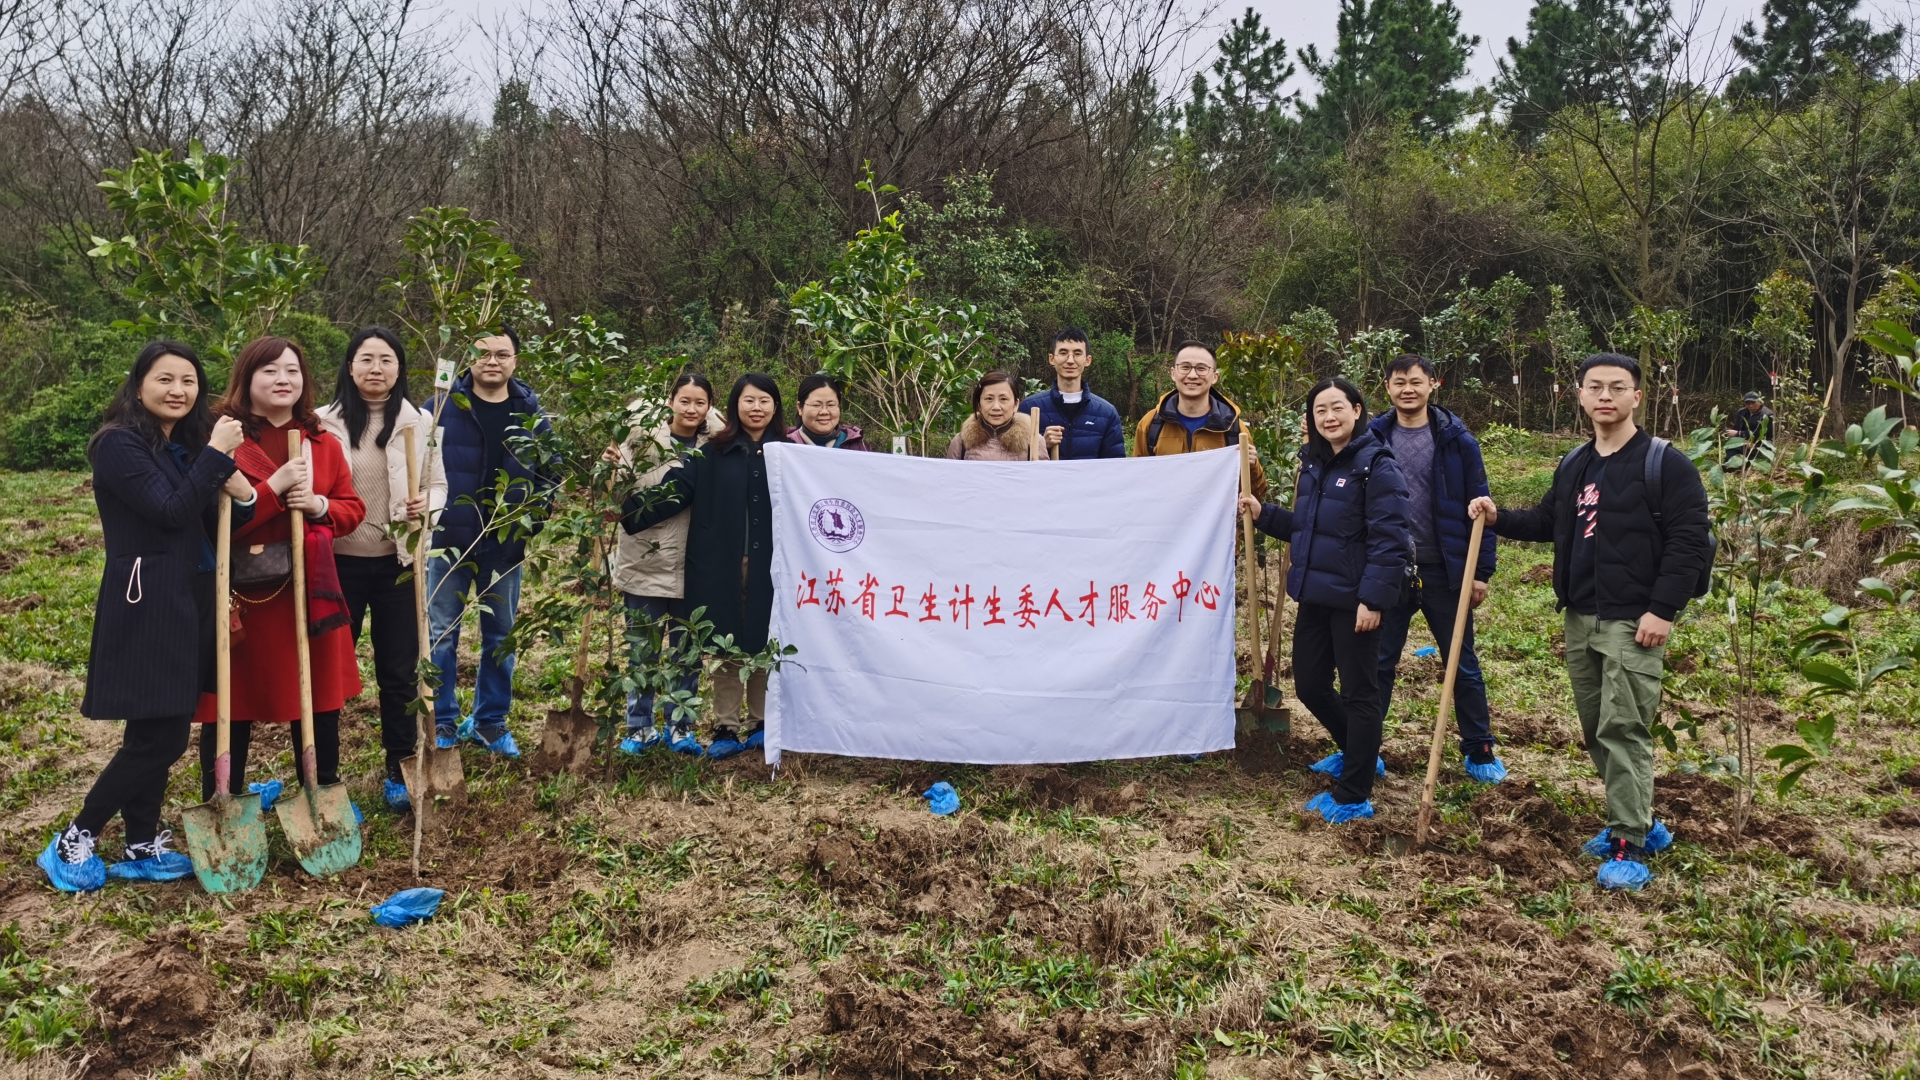
<svg viewBox="0 0 1920 1080">
<path fill-rule="evenodd" d="M 1346 379 L 1308 392 L 1308 444 L 1292 509 L 1242 498 L 1256 527 L 1292 544 L 1286 594 L 1294 617 L 1294 694 L 1327 728 L 1338 753 L 1313 765 L 1334 778 L 1306 809 L 1331 822 L 1373 817 L 1380 753 L 1380 611 L 1407 588 L 1413 542 L 1407 484 L 1394 452 L 1367 429 L 1367 402 Z M 1334 675 L 1340 690 L 1334 692 Z"/>
</svg>

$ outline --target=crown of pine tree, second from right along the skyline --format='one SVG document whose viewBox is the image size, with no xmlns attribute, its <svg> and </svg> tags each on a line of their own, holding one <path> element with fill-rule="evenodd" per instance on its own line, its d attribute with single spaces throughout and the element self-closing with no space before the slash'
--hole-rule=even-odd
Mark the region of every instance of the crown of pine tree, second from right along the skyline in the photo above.
<svg viewBox="0 0 1920 1080">
<path fill-rule="evenodd" d="M 1672 40 L 1668 0 L 1540 0 L 1526 40 L 1507 38 L 1494 92 L 1509 125 L 1532 140 L 1567 106 L 1628 108 L 1657 90 Z"/>
</svg>

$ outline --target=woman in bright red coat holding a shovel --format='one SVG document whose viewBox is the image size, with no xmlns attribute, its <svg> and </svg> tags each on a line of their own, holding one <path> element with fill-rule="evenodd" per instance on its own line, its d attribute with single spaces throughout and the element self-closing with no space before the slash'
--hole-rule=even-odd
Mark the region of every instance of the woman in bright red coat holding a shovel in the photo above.
<svg viewBox="0 0 1920 1080">
<path fill-rule="evenodd" d="M 286 338 L 255 338 L 240 350 L 219 411 L 240 421 L 246 442 L 234 452 L 253 484 L 253 519 L 234 532 L 234 559 L 253 546 L 286 544 L 294 509 L 307 515 L 307 638 L 313 657 L 313 744 L 321 784 L 340 782 L 340 705 L 361 692 L 348 605 L 334 573 L 334 536 L 359 528 L 367 507 L 353 494 L 340 442 L 313 413 L 307 357 Z M 305 454 L 288 459 L 286 432 L 300 430 Z M 253 723 L 300 721 L 300 659 L 294 651 L 290 584 L 234 590 L 238 632 L 232 640 L 232 794 L 246 792 L 246 757 Z M 200 723 L 215 719 L 211 694 L 200 700 Z M 298 732 L 292 736 L 300 738 Z M 213 798 L 213 730 L 200 730 L 200 794 Z"/>
</svg>

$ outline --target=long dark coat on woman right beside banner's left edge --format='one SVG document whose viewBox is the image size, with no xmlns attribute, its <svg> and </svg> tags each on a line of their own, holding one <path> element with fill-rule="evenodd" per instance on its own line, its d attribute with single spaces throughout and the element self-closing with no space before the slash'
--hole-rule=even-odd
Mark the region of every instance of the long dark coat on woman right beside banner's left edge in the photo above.
<svg viewBox="0 0 1920 1080">
<path fill-rule="evenodd" d="M 781 438 L 772 427 L 766 434 Z M 668 469 L 659 486 L 628 496 L 620 523 L 634 534 L 693 507 L 680 615 L 705 607 L 714 636 L 732 634 L 749 653 L 766 648 L 774 619 L 774 507 L 762 446 L 747 436 L 708 442 Z"/>
</svg>

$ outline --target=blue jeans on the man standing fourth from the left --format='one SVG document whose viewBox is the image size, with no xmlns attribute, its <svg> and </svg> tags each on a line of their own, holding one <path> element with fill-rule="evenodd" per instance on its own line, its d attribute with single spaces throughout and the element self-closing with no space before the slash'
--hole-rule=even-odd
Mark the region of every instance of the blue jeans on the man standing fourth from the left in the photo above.
<svg viewBox="0 0 1920 1080">
<path fill-rule="evenodd" d="M 459 678 L 461 615 L 467 592 L 480 603 L 480 676 L 474 678 L 474 726 L 507 726 L 513 707 L 513 653 L 501 642 L 513 632 L 520 609 L 520 559 L 509 559 L 492 540 L 482 540 L 472 555 L 453 565 L 445 555 L 426 569 L 426 613 L 434 644 L 440 690 L 434 692 L 434 724 L 457 724 L 461 703 L 453 694 Z"/>
</svg>

